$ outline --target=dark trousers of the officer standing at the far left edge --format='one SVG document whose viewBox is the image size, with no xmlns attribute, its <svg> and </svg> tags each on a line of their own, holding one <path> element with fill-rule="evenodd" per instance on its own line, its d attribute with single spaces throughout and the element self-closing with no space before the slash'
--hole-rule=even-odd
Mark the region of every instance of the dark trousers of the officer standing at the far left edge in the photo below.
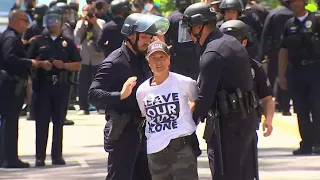
<svg viewBox="0 0 320 180">
<path fill-rule="evenodd" d="M 17 96 L 14 94 L 15 83 L 10 81 L 3 84 L 5 89 L 0 94 L 1 104 L 1 130 L 3 135 L 3 160 L 14 162 L 18 160 L 18 125 L 19 114 L 25 100 L 25 88 Z M 1 147 L 1 146 L 0 146 Z"/>
</svg>

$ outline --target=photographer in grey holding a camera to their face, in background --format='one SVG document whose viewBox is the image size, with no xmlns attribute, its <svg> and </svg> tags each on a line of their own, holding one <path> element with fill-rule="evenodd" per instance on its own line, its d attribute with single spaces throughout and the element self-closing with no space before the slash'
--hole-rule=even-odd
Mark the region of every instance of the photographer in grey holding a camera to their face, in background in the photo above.
<svg viewBox="0 0 320 180">
<path fill-rule="evenodd" d="M 77 42 L 80 42 L 82 57 L 79 74 L 79 101 L 78 115 L 89 115 L 88 90 L 98 66 L 104 59 L 102 50 L 97 46 L 97 39 L 105 21 L 94 14 L 94 5 L 85 5 L 82 9 L 81 20 L 77 22 L 74 31 Z"/>
</svg>

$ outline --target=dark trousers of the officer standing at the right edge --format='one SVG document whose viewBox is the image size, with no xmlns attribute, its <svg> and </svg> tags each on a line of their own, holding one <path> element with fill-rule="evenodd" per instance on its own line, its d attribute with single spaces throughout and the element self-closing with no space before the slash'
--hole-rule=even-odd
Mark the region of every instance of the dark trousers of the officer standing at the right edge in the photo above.
<svg viewBox="0 0 320 180">
<path fill-rule="evenodd" d="M 297 113 L 301 146 L 320 146 L 320 82 L 319 80 L 292 81 L 294 110 Z"/>
</svg>

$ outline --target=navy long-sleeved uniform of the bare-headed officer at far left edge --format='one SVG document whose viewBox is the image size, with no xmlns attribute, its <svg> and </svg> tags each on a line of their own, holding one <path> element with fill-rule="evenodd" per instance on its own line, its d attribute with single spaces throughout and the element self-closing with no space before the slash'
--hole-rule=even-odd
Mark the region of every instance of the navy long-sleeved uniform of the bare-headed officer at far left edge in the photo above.
<svg viewBox="0 0 320 180">
<path fill-rule="evenodd" d="M 4 161 L 7 166 L 19 164 L 18 160 L 18 120 L 25 98 L 25 85 L 28 79 L 31 59 L 27 58 L 20 35 L 8 27 L 1 36 L 0 69 L 5 70 L 14 80 L 5 81 L 0 92 L 1 126 L 4 130 Z M 17 84 L 21 83 L 20 93 L 16 94 Z"/>
</svg>

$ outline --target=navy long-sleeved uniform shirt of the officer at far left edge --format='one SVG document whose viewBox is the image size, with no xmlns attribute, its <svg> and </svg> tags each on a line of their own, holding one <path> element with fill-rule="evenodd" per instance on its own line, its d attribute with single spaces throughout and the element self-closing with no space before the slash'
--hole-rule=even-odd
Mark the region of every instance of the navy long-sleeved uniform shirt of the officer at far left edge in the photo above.
<svg viewBox="0 0 320 180">
<path fill-rule="evenodd" d="M 20 34 L 13 28 L 8 27 L 1 36 L 1 67 L 10 75 L 17 75 L 20 78 L 28 79 L 31 59 L 27 58 L 25 47 L 21 42 Z"/>
</svg>

